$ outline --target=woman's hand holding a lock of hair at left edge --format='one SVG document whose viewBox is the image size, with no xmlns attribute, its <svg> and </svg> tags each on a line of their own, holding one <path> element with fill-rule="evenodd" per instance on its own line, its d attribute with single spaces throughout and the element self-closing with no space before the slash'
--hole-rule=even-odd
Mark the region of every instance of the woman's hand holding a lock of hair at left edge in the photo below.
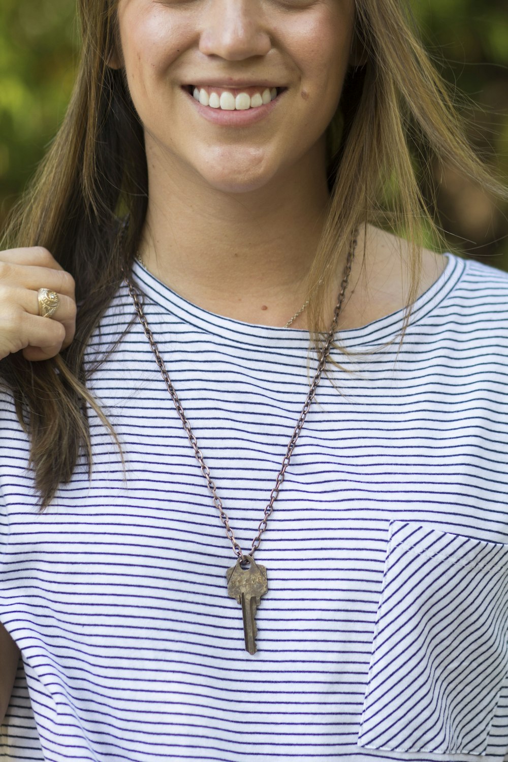
<svg viewBox="0 0 508 762">
<path fill-rule="evenodd" d="M 39 315 L 38 290 L 56 291 L 51 318 Z M 72 275 L 42 246 L 0 251 L 0 360 L 22 351 L 27 360 L 47 360 L 69 347 L 75 333 Z"/>
</svg>

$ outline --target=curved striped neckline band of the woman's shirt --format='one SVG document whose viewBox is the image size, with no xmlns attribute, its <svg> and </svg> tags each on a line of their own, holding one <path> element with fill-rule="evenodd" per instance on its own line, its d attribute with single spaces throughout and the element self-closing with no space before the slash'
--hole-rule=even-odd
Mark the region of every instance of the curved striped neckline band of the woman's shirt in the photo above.
<svg viewBox="0 0 508 762">
<path fill-rule="evenodd" d="M 423 320 L 449 296 L 465 272 L 466 261 L 450 252 L 444 255 L 446 266 L 437 280 L 414 302 L 410 327 Z M 303 328 L 283 328 L 248 323 L 209 312 L 171 290 L 139 262 L 133 264 L 133 280 L 150 302 L 161 307 L 177 319 L 213 335 L 232 340 L 248 338 L 277 344 L 308 344 L 309 334 Z M 340 344 L 347 347 L 368 346 L 392 341 L 400 334 L 404 324 L 404 309 L 395 310 L 359 328 L 348 328 L 337 333 Z"/>
</svg>

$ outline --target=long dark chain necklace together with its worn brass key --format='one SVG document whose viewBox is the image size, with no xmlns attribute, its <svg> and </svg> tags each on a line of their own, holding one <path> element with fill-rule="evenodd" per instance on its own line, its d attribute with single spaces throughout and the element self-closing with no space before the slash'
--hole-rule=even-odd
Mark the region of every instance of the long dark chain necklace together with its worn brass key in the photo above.
<svg viewBox="0 0 508 762">
<path fill-rule="evenodd" d="M 350 279 L 351 266 L 353 264 L 353 258 L 356 251 L 357 235 L 358 235 L 358 231 L 356 231 L 355 234 L 353 235 L 353 240 L 351 241 L 349 251 L 347 252 L 347 260 L 346 260 L 346 265 L 343 271 L 342 282 L 340 284 L 340 292 L 339 292 L 339 296 L 337 300 L 337 306 L 335 307 L 335 310 L 334 310 L 334 318 L 331 322 L 330 329 L 327 333 L 326 341 L 324 342 L 324 346 L 321 349 L 321 353 L 319 354 L 318 369 L 316 370 L 314 379 L 308 391 L 307 399 L 305 399 L 305 404 L 303 405 L 302 412 L 300 413 L 300 417 L 296 424 L 295 430 L 293 431 L 292 437 L 289 440 L 289 444 L 286 450 L 286 455 L 283 458 L 283 465 L 280 469 L 280 472 L 277 475 L 275 486 L 273 487 L 273 490 L 270 492 L 270 500 L 268 501 L 267 506 L 264 509 L 263 518 L 260 520 L 260 523 L 257 527 L 257 535 L 252 540 L 251 551 L 247 555 L 244 555 L 244 553 L 242 552 L 241 547 L 238 545 L 238 542 L 235 539 L 235 533 L 233 532 L 232 528 L 229 526 L 228 515 L 224 511 L 224 507 L 222 505 L 221 499 L 219 498 L 219 495 L 217 495 L 216 485 L 212 481 L 209 468 L 208 466 L 206 466 L 206 463 L 203 458 L 203 453 L 201 452 L 200 448 L 197 445 L 196 437 L 193 434 L 189 421 L 187 421 L 187 418 L 184 413 L 184 408 L 182 408 L 181 402 L 178 399 L 177 392 L 174 389 L 174 386 L 171 383 L 171 379 L 168 376 L 168 371 L 166 370 L 164 361 L 162 360 L 161 355 L 159 354 L 157 344 L 155 344 L 155 339 L 153 338 L 152 331 L 150 330 L 149 324 L 145 318 L 145 313 L 143 312 L 141 303 L 139 302 L 139 297 L 138 297 L 136 288 L 134 287 L 129 277 L 127 277 L 126 274 L 124 274 L 124 280 L 129 289 L 129 294 L 131 298 L 133 299 L 134 309 L 136 309 L 139 322 L 141 323 L 142 328 L 145 331 L 145 336 L 148 339 L 150 348 L 152 349 L 152 352 L 155 356 L 155 361 L 158 365 L 158 369 L 161 371 L 161 376 L 164 379 L 166 386 L 168 387 L 168 392 L 171 396 L 171 399 L 174 402 L 174 406 L 177 409 L 177 413 L 181 418 L 181 422 L 184 426 L 185 433 L 187 434 L 187 437 L 189 438 L 190 444 L 194 450 L 194 454 L 196 456 L 197 462 L 200 464 L 201 472 L 203 473 L 203 476 L 206 479 L 206 485 L 208 486 L 209 491 L 212 495 L 213 504 L 218 509 L 220 520 L 224 524 L 226 536 L 228 537 L 230 543 L 232 544 L 233 552 L 237 556 L 237 561 L 235 565 L 229 568 L 228 571 L 226 572 L 226 580 L 228 583 L 228 595 L 232 598 L 235 598 L 238 604 L 241 605 L 241 611 L 242 611 L 242 616 L 244 620 L 245 648 L 250 654 L 254 654 L 257 651 L 257 648 L 256 648 L 257 628 L 256 628 L 256 620 L 255 620 L 256 610 L 257 610 L 257 607 L 260 605 L 261 597 L 268 590 L 267 569 L 265 566 L 261 564 L 257 564 L 254 561 L 254 552 L 256 552 L 256 550 L 259 548 L 260 542 L 261 542 L 261 536 L 263 535 L 264 531 L 267 529 L 268 519 L 270 518 L 270 515 L 273 513 L 273 503 L 276 501 L 277 495 L 279 495 L 280 487 L 283 483 L 286 469 L 289 466 L 289 461 L 291 459 L 292 452 L 296 447 L 296 441 L 298 440 L 300 431 L 302 431 L 303 424 L 305 423 L 305 418 L 307 418 L 307 413 L 309 411 L 309 408 L 312 405 L 312 401 L 315 398 L 315 393 L 316 393 L 316 389 L 318 388 L 318 383 L 321 380 L 321 375 L 327 363 L 327 358 L 330 352 L 331 343 L 334 340 L 335 329 L 337 328 L 337 321 L 339 319 L 340 310 L 342 309 L 342 305 L 343 305 L 344 294 L 346 293 L 347 284 Z M 308 302 L 306 302 L 302 306 L 302 309 L 300 309 L 300 311 L 297 312 L 296 315 L 294 315 L 294 317 L 292 317 L 292 319 L 289 321 L 289 324 L 294 319 L 296 319 L 296 317 L 301 312 L 303 312 L 303 310 L 305 309 L 307 305 L 308 305 Z"/>
</svg>

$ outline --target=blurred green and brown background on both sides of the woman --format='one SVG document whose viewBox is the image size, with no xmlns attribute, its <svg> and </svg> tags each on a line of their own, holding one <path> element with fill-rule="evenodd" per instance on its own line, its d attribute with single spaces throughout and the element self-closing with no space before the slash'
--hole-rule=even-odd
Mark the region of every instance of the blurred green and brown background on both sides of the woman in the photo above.
<svg viewBox="0 0 508 762">
<path fill-rule="evenodd" d="M 471 142 L 508 182 L 506 0 L 413 0 L 412 8 Z M 0 228 L 65 114 L 77 58 L 72 2 L 2 0 Z M 453 251 L 508 271 L 508 208 L 445 168 L 435 211 Z"/>
</svg>

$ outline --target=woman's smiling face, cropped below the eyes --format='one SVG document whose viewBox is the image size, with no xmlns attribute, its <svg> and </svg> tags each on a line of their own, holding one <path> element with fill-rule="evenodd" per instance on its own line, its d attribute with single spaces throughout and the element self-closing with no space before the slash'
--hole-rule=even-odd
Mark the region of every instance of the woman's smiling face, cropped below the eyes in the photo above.
<svg viewBox="0 0 508 762">
<path fill-rule="evenodd" d="M 226 192 L 324 172 L 354 0 L 119 0 L 118 19 L 149 162 Z"/>
</svg>

